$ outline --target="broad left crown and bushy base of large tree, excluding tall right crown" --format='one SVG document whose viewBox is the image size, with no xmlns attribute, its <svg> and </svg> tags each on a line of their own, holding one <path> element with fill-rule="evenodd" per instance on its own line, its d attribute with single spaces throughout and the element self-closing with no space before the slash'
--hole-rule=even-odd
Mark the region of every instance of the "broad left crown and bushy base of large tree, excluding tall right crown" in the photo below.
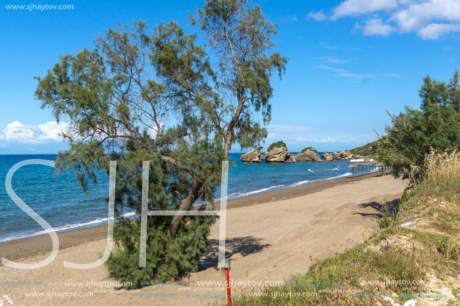
<svg viewBox="0 0 460 306">
<path fill-rule="evenodd" d="M 169 47 L 185 46 L 172 60 L 186 84 L 180 88 L 166 74 L 151 79 L 146 68 L 151 63 L 162 75 L 171 64 L 158 56 L 165 47 L 155 44 L 161 34 L 148 36 L 142 22 L 126 29 L 109 29 L 96 40 L 96 50 L 62 56 L 37 78 L 42 108 L 70 122 L 64 134 L 69 149 L 59 152 L 58 171 L 75 171 L 85 189 L 88 180 L 96 183 L 96 171 L 108 172 L 109 161 L 116 160 L 117 214 L 141 211 L 142 161 L 150 161 L 148 210 L 188 210 L 200 197 L 212 203 L 226 156 L 222 136 L 197 112 L 204 99 L 214 98 L 204 83 L 210 74 L 204 53 L 193 36 L 169 24 L 178 37 Z M 176 125 L 166 127 L 171 118 Z M 139 287 L 140 280 L 180 277 L 196 268 L 215 217 L 182 219 L 148 217 L 145 268 L 136 268 L 139 221 L 117 223 L 120 248 L 106 262 L 110 274 Z"/>
</svg>

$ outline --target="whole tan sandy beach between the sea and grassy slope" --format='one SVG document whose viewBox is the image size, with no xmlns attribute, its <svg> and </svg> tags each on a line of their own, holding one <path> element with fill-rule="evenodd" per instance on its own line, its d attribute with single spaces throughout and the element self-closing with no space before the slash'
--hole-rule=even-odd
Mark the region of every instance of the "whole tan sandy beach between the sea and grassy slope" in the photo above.
<svg viewBox="0 0 460 306">
<path fill-rule="evenodd" d="M 368 237 L 378 227 L 378 218 L 381 217 L 376 205 L 399 198 L 405 187 L 405 182 L 390 175 L 368 175 L 228 201 L 226 252 L 231 261 L 230 279 L 264 283 L 282 281 L 290 275 L 305 272 L 312 262 Z M 58 235 L 60 250 L 49 265 L 26 270 L 0 266 L 2 282 L 41 283 L 0 284 L 2 294 L 7 294 L 15 305 L 205 305 L 220 300 L 186 295 L 226 294 L 223 285 L 198 283 L 225 280 L 216 268 L 219 222 L 212 228 L 210 246 L 199 270 L 180 280 L 188 282 L 187 286 L 151 285 L 138 292 L 117 291 L 119 286 L 113 285 L 116 281 L 107 276 L 104 266 L 89 270 L 63 266 L 63 260 L 89 263 L 100 258 L 106 245 L 106 225 Z M 31 237 L 0 244 L 0 256 L 33 263 L 45 259 L 51 248 L 49 236 Z M 66 285 L 65 282 L 81 283 Z M 260 285 L 246 285 L 244 289 L 232 286 L 232 294 L 239 294 L 241 290 L 260 291 Z M 44 294 L 41 297 L 26 296 L 29 292 Z M 73 293 L 76 296 L 61 297 Z"/>
</svg>

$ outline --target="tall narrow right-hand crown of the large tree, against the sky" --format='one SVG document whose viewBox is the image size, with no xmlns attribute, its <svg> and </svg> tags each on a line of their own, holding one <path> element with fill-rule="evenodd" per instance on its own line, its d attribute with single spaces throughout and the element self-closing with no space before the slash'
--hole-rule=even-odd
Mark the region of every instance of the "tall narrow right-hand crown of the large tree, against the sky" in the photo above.
<svg viewBox="0 0 460 306">
<path fill-rule="evenodd" d="M 215 91 L 224 94 L 208 114 L 225 138 L 226 152 L 235 142 L 242 149 L 255 147 L 267 136 L 263 126 L 271 120 L 270 78 L 276 72 L 281 78 L 287 64 L 287 58 L 272 51 L 277 25 L 247 0 L 207 0 L 190 22 L 220 59 L 214 84 Z M 263 126 L 254 114 L 261 115 Z"/>
</svg>

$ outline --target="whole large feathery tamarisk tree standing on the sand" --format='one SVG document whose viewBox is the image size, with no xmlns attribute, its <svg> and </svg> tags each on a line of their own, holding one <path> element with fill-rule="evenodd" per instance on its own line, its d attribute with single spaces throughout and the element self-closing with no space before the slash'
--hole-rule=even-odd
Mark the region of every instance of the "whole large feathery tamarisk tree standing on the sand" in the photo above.
<svg viewBox="0 0 460 306">
<path fill-rule="evenodd" d="M 97 182 L 98 170 L 108 173 L 109 161 L 117 160 L 118 213 L 126 207 L 141 211 L 142 161 L 150 161 L 148 210 L 189 210 L 199 198 L 213 202 L 232 143 L 251 147 L 266 136 L 254 116 L 261 113 L 264 124 L 270 120 L 271 72 L 281 76 L 287 61 L 267 55 L 274 26 L 245 2 L 208 1 L 198 14 L 210 41 L 215 30 L 222 43 L 228 37 L 226 46 L 211 45 L 211 56 L 175 22 L 150 33 L 135 22 L 107 30 L 93 51 L 61 56 L 37 78 L 42 108 L 69 122 L 62 134 L 69 148 L 58 154 L 58 171 L 73 169 L 85 189 Z M 107 261 L 112 276 L 141 287 L 197 268 L 215 217 L 147 220 L 142 269 L 135 268 L 140 220 L 116 223 L 114 238 L 122 248 Z"/>
</svg>

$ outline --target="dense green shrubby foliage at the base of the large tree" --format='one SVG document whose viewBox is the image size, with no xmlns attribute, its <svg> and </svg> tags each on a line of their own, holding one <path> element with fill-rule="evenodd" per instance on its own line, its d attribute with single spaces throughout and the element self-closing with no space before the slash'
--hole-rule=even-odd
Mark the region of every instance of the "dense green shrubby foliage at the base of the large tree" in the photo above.
<svg viewBox="0 0 460 306">
<path fill-rule="evenodd" d="M 117 248 L 106 262 L 109 275 L 131 282 L 140 288 L 142 282 L 179 279 L 198 269 L 198 261 L 206 248 L 206 237 L 215 218 L 207 216 L 186 217 L 174 241 L 167 236 L 173 217 L 155 216 L 147 219 L 146 266 L 139 268 L 140 220 L 118 222 L 114 239 L 123 248 Z"/>
</svg>

